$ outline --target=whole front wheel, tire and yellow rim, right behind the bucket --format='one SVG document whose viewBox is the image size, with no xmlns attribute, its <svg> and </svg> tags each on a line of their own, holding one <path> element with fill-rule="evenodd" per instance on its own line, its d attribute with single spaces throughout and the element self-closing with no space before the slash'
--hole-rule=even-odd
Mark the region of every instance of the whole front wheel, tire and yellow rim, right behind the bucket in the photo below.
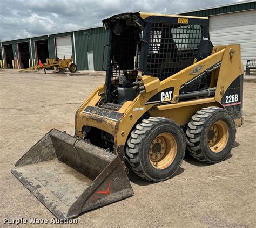
<svg viewBox="0 0 256 228">
<path fill-rule="evenodd" d="M 150 117 L 136 125 L 127 140 L 130 168 L 149 181 L 172 177 L 184 159 L 186 141 L 180 126 L 170 119 Z"/>
</svg>

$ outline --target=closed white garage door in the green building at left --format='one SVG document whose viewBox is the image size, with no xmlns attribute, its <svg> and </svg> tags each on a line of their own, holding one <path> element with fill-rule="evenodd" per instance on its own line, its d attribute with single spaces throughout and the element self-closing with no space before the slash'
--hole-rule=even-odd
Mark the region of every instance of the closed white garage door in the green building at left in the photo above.
<svg viewBox="0 0 256 228">
<path fill-rule="evenodd" d="M 66 56 L 66 59 L 68 59 L 73 55 L 71 37 L 60 37 L 56 38 L 55 41 L 56 54 L 59 59 L 63 59 L 63 56 Z"/>
</svg>

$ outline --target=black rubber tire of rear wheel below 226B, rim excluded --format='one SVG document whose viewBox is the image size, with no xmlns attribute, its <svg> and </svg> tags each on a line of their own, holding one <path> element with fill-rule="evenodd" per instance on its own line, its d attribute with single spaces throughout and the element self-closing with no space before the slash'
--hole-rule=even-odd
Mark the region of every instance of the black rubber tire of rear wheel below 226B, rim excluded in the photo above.
<svg viewBox="0 0 256 228">
<path fill-rule="evenodd" d="M 208 131 L 218 120 L 222 120 L 227 125 L 228 141 L 220 152 L 214 153 L 208 146 Z M 235 123 L 228 111 L 219 107 L 203 108 L 197 111 L 188 123 L 186 130 L 187 149 L 199 161 L 218 163 L 225 160 L 230 154 L 235 141 L 235 133 Z"/>
</svg>

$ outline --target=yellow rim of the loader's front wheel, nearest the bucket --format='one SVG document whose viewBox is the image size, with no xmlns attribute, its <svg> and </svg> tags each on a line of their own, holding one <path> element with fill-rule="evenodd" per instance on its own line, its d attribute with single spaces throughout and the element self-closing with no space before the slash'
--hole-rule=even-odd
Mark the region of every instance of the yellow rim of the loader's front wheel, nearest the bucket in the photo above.
<svg viewBox="0 0 256 228">
<path fill-rule="evenodd" d="M 176 139 L 170 133 L 159 134 L 150 144 L 150 163 L 156 169 L 165 169 L 169 167 L 174 161 L 176 154 Z"/>
</svg>

